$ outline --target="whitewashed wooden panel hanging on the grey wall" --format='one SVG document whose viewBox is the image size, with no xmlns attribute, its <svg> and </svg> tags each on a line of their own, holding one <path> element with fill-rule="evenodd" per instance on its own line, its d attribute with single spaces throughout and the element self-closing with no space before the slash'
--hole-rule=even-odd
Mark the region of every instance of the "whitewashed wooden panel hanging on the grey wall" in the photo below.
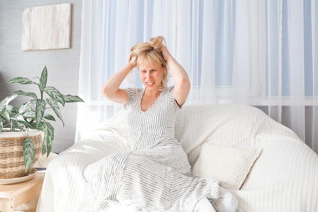
<svg viewBox="0 0 318 212">
<path fill-rule="evenodd" d="M 24 8 L 21 50 L 71 48 L 72 5 Z"/>
</svg>

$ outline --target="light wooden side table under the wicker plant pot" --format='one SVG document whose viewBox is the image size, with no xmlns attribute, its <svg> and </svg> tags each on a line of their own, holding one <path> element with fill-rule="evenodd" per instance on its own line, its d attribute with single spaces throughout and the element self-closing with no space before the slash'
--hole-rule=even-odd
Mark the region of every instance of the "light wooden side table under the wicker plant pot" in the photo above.
<svg viewBox="0 0 318 212">
<path fill-rule="evenodd" d="M 37 172 L 33 179 L 18 184 L 0 185 L 0 211 L 14 212 L 24 202 L 40 195 L 45 172 Z"/>
</svg>

